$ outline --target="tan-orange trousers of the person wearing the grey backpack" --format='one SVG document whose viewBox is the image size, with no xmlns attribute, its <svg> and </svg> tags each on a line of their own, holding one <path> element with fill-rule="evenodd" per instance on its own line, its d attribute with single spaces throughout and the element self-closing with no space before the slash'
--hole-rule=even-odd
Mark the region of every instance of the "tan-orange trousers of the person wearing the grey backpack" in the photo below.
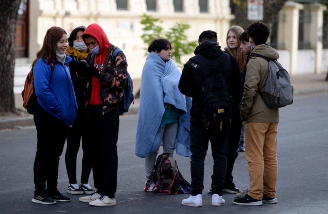
<svg viewBox="0 0 328 214">
<path fill-rule="evenodd" d="M 245 157 L 250 183 L 248 195 L 257 200 L 262 199 L 263 193 L 270 198 L 276 197 L 277 126 L 278 123 L 245 124 Z"/>
</svg>

